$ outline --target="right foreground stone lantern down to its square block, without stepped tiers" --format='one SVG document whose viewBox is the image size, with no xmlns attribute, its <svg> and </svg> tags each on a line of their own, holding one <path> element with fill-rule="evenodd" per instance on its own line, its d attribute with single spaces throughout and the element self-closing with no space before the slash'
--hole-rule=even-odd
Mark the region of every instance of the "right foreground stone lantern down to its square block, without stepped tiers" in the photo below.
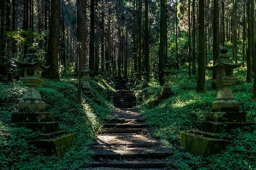
<svg viewBox="0 0 256 170">
<path fill-rule="evenodd" d="M 238 112 L 239 102 L 234 100 L 234 95 L 230 87 L 236 82 L 237 78 L 233 76 L 233 70 L 240 67 L 244 61 L 234 63 L 233 59 L 229 57 L 228 48 L 221 49 L 221 55 L 212 67 L 206 66 L 208 70 L 216 70 L 217 78 L 213 80 L 220 90 L 216 96 L 216 101 L 212 103 L 213 112 Z"/>
</svg>

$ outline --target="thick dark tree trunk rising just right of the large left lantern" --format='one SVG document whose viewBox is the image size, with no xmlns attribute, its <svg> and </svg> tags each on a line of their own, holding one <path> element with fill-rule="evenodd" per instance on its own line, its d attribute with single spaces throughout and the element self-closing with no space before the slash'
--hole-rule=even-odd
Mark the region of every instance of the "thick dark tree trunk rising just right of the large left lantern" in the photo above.
<svg viewBox="0 0 256 170">
<path fill-rule="evenodd" d="M 60 0 L 51 1 L 51 15 L 49 20 L 49 41 L 47 46 L 46 71 L 49 79 L 59 79 L 58 54 L 60 35 Z"/>
</svg>

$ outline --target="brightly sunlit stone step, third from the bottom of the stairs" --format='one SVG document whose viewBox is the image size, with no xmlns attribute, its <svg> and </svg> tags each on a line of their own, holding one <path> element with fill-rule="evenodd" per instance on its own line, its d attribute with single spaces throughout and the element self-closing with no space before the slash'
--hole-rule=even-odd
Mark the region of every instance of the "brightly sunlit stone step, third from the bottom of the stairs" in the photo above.
<svg viewBox="0 0 256 170">
<path fill-rule="evenodd" d="M 112 134 L 112 135 L 99 135 L 94 142 L 94 148 L 104 148 L 103 146 L 113 146 L 113 145 L 125 145 L 125 146 L 158 146 L 161 142 L 158 142 L 147 135 L 143 134 Z"/>
</svg>

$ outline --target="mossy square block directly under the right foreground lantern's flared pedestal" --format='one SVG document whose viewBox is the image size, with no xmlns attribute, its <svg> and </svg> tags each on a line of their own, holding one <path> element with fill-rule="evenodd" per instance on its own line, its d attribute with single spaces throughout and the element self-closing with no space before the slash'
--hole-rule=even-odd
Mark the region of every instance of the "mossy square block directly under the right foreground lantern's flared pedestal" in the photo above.
<svg viewBox="0 0 256 170">
<path fill-rule="evenodd" d="M 216 100 L 212 103 L 212 112 L 239 112 L 239 105 L 236 100 Z"/>
</svg>

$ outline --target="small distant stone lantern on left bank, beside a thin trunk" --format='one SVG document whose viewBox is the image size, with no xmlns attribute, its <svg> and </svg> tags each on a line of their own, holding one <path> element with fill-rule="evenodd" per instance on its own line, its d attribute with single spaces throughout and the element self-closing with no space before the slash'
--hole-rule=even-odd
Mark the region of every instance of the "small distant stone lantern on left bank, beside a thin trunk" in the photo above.
<svg viewBox="0 0 256 170">
<path fill-rule="evenodd" d="M 84 80 L 84 84 L 82 85 L 82 91 L 86 96 L 93 97 L 92 88 L 90 88 L 89 80 L 90 80 L 90 70 L 88 67 L 88 63 L 85 63 L 84 70 L 82 70 L 82 79 Z"/>
</svg>

